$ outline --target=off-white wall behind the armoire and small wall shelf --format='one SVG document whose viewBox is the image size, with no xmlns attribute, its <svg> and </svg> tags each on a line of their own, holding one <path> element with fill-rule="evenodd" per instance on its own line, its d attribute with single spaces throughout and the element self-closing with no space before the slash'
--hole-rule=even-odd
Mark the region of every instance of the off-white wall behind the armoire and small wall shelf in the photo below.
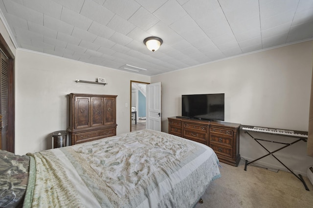
<svg viewBox="0 0 313 208">
<path fill-rule="evenodd" d="M 75 82 L 97 77 L 106 78 L 108 85 Z M 69 93 L 117 95 L 117 134 L 129 132 L 130 80 L 150 82 L 150 77 L 17 50 L 16 153 L 52 147 L 51 133 L 67 129 Z"/>
</svg>

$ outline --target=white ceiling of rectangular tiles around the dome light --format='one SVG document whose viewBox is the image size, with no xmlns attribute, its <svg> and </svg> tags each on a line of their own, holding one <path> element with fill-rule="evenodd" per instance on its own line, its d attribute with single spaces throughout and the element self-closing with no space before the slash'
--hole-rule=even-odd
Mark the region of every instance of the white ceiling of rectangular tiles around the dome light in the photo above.
<svg viewBox="0 0 313 208">
<path fill-rule="evenodd" d="M 0 0 L 15 46 L 154 76 L 313 39 L 313 0 Z M 163 44 L 149 51 L 143 39 Z"/>
</svg>

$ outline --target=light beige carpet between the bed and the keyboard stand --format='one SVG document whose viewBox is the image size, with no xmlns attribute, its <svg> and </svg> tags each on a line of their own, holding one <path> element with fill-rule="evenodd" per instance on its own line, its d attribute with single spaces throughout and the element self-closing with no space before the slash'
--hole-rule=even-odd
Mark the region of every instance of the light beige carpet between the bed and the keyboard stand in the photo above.
<svg viewBox="0 0 313 208">
<path fill-rule="evenodd" d="M 195 208 L 313 208 L 313 186 L 310 189 L 292 173 L 266 170 L 251 165 L 245 168 L 220 163 L 222 177 L 213 181 L 202 196 L 203 204 Z"/>
</svg>

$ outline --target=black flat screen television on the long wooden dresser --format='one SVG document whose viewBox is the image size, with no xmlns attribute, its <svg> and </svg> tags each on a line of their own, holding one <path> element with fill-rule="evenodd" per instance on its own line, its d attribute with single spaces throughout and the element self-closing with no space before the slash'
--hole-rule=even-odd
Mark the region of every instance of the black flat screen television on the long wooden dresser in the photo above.
<svg viewBox="0 0 313 208">
<path fill-rule="evenodd" d="M 181 116 L 224 121 L 224 93 L 181 95 Z"/>
</svg>

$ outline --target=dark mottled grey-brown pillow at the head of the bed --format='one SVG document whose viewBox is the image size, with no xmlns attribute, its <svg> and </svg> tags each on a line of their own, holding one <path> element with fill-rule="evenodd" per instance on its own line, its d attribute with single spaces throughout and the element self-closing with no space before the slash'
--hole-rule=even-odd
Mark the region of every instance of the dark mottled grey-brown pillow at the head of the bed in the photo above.
<svg viewBox="0 0 313 208">
<path fill-rule="evenodd" d="M 29 156 L 0 150 L 0 207 L 22 207 L 27 186 Z"/>
</svg>

